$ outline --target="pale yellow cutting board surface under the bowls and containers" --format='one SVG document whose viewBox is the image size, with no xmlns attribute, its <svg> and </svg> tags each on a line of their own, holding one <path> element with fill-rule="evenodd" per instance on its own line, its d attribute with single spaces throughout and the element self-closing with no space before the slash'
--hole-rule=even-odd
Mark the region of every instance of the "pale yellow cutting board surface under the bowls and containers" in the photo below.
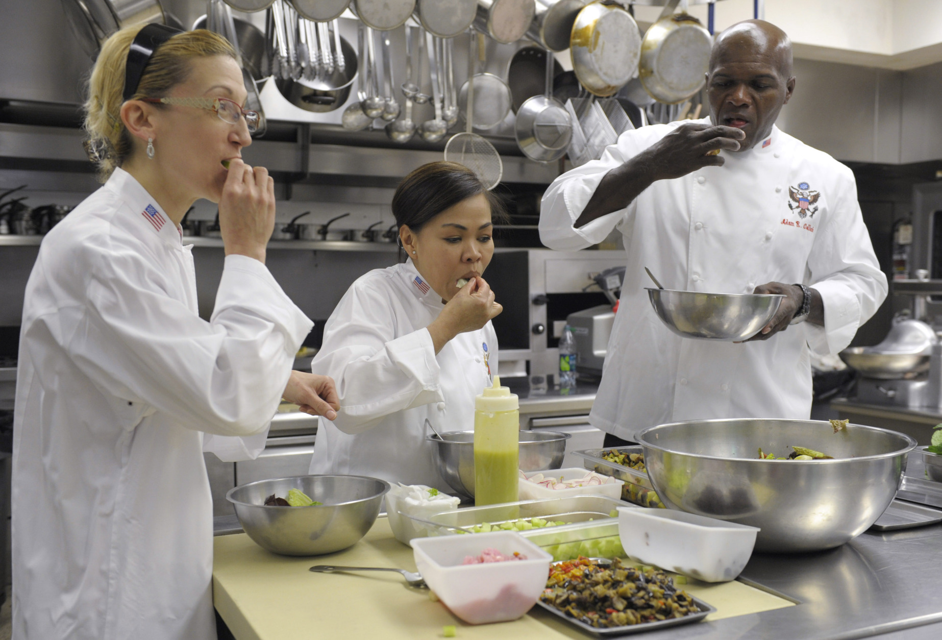
<svg viewBox="0 0 942 640">
<path fill-rule="evenodd" d="M 428 589 L 407 586 L 386 572 L 324 574 L 314 565 L 396 566 L 415 570 L 413 552 L 400 544 L 381 517 L 363 540 L 348 550 L 315 557 L 288 557 L 262 549 L 245 533 L 214 539 L 213 601 L 237 640 L 443 637 L 445 625 L 458 638 L 552 640 L 589 638 L 555 615 L 534 607 L 512 622 L 473 626 L 433 602 Z M 690 580 L 684 589 L 717 608 L 718 620 L 792 606 L 739 582 L 707 584 Z"/>
</svg>

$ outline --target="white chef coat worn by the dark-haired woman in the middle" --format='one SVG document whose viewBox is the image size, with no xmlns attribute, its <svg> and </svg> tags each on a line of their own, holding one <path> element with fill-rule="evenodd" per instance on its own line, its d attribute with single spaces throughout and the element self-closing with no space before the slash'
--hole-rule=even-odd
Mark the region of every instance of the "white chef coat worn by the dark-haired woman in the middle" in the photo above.
<svg viewBox="0 0 942 640">
<path fill-rule="evenodd" d="M 435 469 L 425 419 L 439 433 L 474 429 L 475 397 L 497 371 L 497 336 L 488 321 L 436 355 L 426 327 L 444 306 L 412 260 L 349 287 L 311 363 L 333 377 L 340 396 L 337 418 L 320 418 L 311 473 L 451 490 Z"/>
</svg>

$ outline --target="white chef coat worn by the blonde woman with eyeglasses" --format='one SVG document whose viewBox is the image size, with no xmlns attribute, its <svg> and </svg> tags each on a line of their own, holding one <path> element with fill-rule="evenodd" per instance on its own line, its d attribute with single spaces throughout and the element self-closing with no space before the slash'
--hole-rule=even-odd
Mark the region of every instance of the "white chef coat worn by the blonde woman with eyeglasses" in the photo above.
<svg viewBox="0 0 942 640">
<path fill-rule="evenodd" d="M 244 255 L 201 320 L 190 247 L 121 169 L 43 238 L 14 415 L 14 638 L 215 640 L 203 433 L 257 454 L 310 328 Z"/>
</svg>

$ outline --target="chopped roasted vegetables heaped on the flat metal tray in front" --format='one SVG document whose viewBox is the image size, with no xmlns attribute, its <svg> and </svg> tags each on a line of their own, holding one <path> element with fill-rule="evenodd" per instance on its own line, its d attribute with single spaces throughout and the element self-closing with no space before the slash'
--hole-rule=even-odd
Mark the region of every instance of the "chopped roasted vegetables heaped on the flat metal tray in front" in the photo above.
<svg viewBox="0 0 942 640">
<path fill-rule="evenodd" d="M 615 558 L 600 564 L 588 558 L 550 568 L 540 599 L 566 615 L 597 628 L 624 627 L 700 613 L 663 571 L 622 566 Z"/>
</svg>

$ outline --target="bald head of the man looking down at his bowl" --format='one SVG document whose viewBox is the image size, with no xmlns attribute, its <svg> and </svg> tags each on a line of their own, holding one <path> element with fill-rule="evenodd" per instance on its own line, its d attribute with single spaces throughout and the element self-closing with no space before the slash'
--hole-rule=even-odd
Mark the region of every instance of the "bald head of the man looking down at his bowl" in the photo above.
<svg viewBox="0 0 942 640">
<path fill-rule="evenodd" d="M 769 138 L 794 88 L 785 31 L 764 20 L 746 20 L 717 36 L 707 73 L 710 117 L 742 129 L 746 138 L 740 150 Z"/>
</svg>

